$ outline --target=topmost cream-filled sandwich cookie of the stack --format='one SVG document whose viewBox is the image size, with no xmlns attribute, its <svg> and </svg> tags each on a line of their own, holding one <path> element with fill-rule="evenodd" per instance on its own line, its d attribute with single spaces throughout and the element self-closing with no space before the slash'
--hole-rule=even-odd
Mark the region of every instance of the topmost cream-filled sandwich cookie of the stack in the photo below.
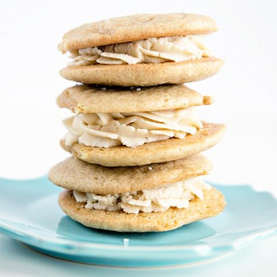
<svg viewBox="0 0 277 277">
<path fill-rule="evenodd" d="M 193 14 L 140 14 L 84 24 L 59 44 L 72 61 L 60 71 L 86 84 L 153 86 L 215 75 L 223 60 L 206 47 L 213 19 Z"/>
</svg>

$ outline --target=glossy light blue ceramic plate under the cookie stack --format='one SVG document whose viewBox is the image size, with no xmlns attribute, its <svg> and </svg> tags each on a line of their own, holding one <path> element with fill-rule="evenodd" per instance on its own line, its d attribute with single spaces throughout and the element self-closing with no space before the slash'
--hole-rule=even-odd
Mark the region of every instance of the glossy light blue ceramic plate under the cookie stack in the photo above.
<svg viewBox="0 0 277 277">
<path fill-rule="evenodd" d="M 58 258 L 109 266 L 172 266 L 219 258 L 277 233 L 277 201 L 249 185 L 215 185 L 227 200 L 219 216 L 164 233 L 86 228 L 57 204 L 46 177 L 0 179 L 0 232 Z M 129 239 L 124 245 L 123 239 Z"/>
</svg>

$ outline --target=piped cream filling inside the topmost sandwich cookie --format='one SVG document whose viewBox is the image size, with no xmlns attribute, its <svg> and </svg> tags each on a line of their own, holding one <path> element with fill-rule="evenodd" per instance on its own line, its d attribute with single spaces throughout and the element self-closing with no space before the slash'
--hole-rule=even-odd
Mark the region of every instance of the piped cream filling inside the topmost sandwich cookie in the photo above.
<svg viewBox="0 0 277 277">
<path fill-rule="evenodd" d="M 71 50 L 71 65 L 135 64 L 184 61 L 210 57 L 204 44 L 207 35 L 148 38 L 133 42 Z"/>
</svg>

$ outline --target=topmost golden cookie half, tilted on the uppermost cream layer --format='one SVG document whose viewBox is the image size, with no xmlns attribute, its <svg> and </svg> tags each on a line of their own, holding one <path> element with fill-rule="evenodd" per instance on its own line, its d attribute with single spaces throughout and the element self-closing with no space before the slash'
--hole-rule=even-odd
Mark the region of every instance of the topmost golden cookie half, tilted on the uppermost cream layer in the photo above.
<svg viewBox="0 0 277 277">
<path fill-rule="evenodd" d="M 139 14 L 84 24 L 64 34 L 59 50 L 123 43 L 150 37 L 207 34 L 217 30 L 207 16 L 174 14 Z"/>
</svg>

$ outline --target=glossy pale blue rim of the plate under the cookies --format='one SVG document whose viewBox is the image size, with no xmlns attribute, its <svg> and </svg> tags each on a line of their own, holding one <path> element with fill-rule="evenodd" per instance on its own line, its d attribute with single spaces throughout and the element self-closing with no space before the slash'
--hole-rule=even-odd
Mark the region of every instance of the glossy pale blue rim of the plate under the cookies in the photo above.
<svg viewBox="0 0 277 277">
<path fill-rule="evenodd" d="M 9 181 L 9 182 L 28 182 L 28 181 L 40 181 L 48 180 L 47 176 L 42 176 L 39 178 L 34 179 L 7 179 L 7 178 L 0 178 L 0 181 Z M 274 195 L 272 195 L 268 191 L 256 191 L 250 184 L 236 184 L 236 185 L 226 185 L 226 184 L 219 184 L 211 181 L 207 181 L 211 185 L 217 186 L 217 187 L 249 187 L 251 190 L 253 190 L 256 193 L 268 193 L 270 194 L 274 199 Z M 276 200 L 276 199 L 275 199 Z M 223 212 L 224 213 L 224 212 Z M 61 252 L 61 250 L 68 249 L 78 249 L 78 251 L 86 252 L 89 249 L 98 249 L 98 250 L 123 250 L 123 251 L 157 251 L 157 250 L 168 250 L 168 251 L 180 251 L 180 250 L 188 250 L 191 252 L 214 252 L 214 251 L 234 251 L 241 249 L 248 244 L 251 244 L 255 241 L 260 241 L 265 238 L 269 238 L 271 236 L 277 235 L 277 224 L 273 225 L 271 227 L 265 227 L 261 230 L 258 230 L 256 232 L 252 232 L 247 235 L 243 235 L 240 238 L 233 239 L 230 242 L 222 242 L 222 243 L 209 243 L 209 244 L 203 244 L 203 243 L 196 243 L 191 245 L 160 245 L 160 246 L 134 246 L 134 245 L 124 245 L 122 241 L 122 245 L 111 245 L 107 243 L 95 243 L 95 242 L 82 242 L 82 241 L 74 241 L 69 240 L 62 237 L 45 237 L 40 234 L 30 234 L 30 232 L 22 230 L 21 228 L 17 228 L 15 226 L 12 226 L 8 224 L 9 222 L 6 219 L 0 218 L 0 233 L 11 237 L 13 239 L 16 239 L 18 241 L 21 241 L 23 243 L 27 243 L 33 246 L 39 247 L 39 245 L 44 242 L 44 249 L 47 250 L 53 250 L 53 248 L 56 248 Z"/>
</svg>

